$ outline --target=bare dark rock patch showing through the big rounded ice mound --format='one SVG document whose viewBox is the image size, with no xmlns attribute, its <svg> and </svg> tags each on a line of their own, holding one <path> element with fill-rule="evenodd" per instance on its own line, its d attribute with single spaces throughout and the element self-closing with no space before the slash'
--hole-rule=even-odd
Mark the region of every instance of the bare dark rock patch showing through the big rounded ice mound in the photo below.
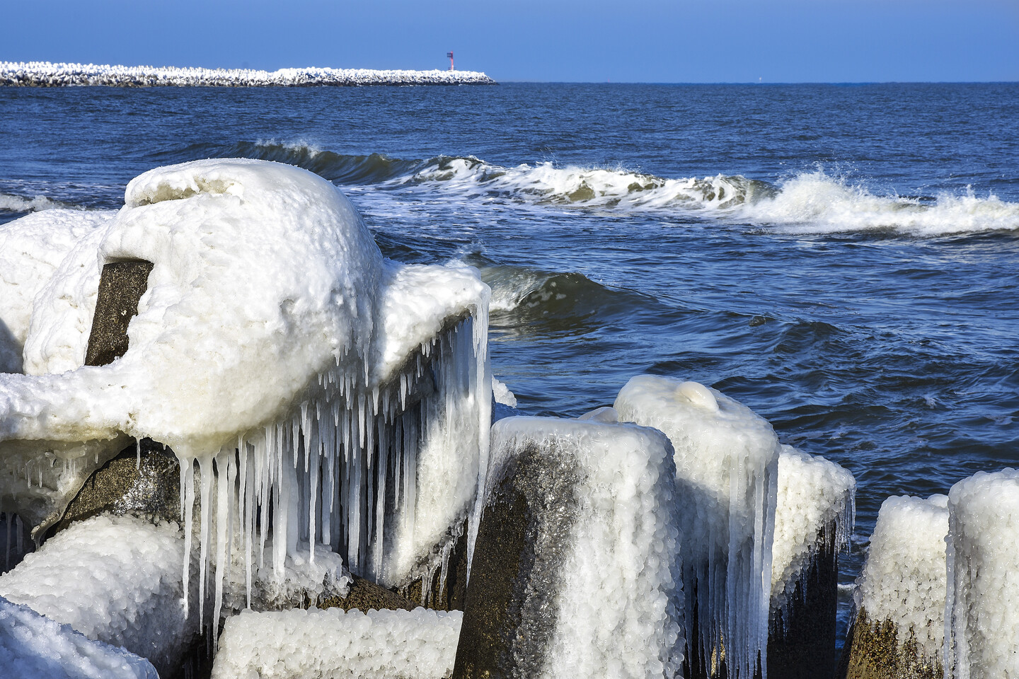
<svg viewBox="0 0 1019 679">
<path fill-rule="evenodd" d="M 114 262 L 103 267 L 86 365 L 107 365 L 127 351 L 127 324 L 138 314 L 152 267 L 151 262 Z"/>
</svg>

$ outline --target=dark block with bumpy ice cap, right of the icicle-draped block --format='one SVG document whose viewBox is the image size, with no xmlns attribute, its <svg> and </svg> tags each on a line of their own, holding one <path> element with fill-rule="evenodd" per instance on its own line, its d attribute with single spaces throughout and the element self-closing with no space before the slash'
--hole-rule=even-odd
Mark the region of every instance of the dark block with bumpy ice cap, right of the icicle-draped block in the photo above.
<svg viewBox="0 0 1019 679">
<path fill-rule="evenodd" d="M 848 470 L 782 446 L 768 614 L 773 678 L 812 679 L 835 667 L 838 555 L 853 531 L 855 491 Z"/>
</svg>

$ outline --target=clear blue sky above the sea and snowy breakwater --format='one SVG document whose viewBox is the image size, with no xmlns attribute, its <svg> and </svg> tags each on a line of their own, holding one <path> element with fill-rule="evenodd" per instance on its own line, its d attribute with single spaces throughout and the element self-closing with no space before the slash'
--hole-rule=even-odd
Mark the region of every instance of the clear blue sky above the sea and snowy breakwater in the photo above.
<svg viewBox="0 0 1019 679">
<path fill-rule="evenodd" d="M 498 80 L 1019 80 L 1019 0 L 25 0 L 4 18 L 9 61 L 425 69 L 453 50 Z"/>
</svg>

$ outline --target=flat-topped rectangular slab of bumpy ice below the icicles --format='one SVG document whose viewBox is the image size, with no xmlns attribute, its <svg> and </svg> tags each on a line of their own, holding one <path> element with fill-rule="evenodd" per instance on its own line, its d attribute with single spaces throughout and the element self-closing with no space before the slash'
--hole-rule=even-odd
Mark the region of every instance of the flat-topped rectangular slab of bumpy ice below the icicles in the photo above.
<svg viewBox="0 0 1019 679">
<path fill-rule="evenodd" d="M 463 615 L 422 608 L 245 611 L 226 621 L 212 676 L 443 679 L 452 674 Z"/>
</svg>

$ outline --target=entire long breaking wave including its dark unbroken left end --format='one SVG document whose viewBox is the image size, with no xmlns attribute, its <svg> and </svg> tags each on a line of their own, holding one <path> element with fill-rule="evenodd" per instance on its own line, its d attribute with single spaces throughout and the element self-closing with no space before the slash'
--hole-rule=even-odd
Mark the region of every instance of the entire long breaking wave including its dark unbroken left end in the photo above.
<svg viewBox="0 0 1019 679">
<path fill-rule="evenodd" d="M 298 165 L 346 186 L 372 185 L 462 200 L 710 219 L 792 233 L 866 230 L 932 236 L 1019 230 L 1019 203 L 994 194 L 881 195 L 823 170 L 779 183 L 743 175 L 665 178 L 625 168 L 557 167 L 551 162 L 503 167 L 474 157 L 424 160 L 384 154 L 343 155 L 307 144 L 240 142 L 168 152 L 174 161 L 247 157 Z"/>
</svg>

